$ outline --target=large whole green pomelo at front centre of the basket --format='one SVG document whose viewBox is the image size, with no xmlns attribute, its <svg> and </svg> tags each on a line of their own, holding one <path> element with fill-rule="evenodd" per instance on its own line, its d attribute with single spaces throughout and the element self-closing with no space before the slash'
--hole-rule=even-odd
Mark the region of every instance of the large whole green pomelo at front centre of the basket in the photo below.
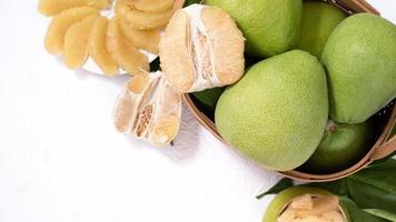
<svg viewBox="0 0 396 222">
<path fill-rule="evenodd" d="M 287 171 L 306 162 L 328 118 L 326 75 L 320 62 L 300 50 L 253 65 L 221 94 L 218 131 L 244 155 Z"/>
</svg>

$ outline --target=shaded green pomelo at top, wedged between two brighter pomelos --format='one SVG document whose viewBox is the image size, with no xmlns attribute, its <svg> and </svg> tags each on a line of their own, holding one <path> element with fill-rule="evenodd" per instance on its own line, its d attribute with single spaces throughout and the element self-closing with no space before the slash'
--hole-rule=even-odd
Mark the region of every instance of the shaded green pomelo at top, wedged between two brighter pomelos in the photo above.
<svg viewBox="0 0 396 222">
<path fill-rule="evenodd" d="M 334 28 L 346 18 L 337 7 L 323 1 L 304 1 L 301 36 L 297 48 L 320 58 Z"/>
</svg>

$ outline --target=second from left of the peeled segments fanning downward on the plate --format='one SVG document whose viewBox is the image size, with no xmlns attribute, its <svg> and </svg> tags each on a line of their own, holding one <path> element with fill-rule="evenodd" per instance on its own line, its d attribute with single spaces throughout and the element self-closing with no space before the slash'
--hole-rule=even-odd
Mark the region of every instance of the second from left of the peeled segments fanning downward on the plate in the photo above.
<svg viewBox="0 0 396 222">
<path fill-rule="evenodd" d="M 70 69 L 81 68 L 88 58 L 88 37 L 93 22 L 99 16 L 93 14 L 70 27 L 65 37 L 65 64 Z"/>
</svg>

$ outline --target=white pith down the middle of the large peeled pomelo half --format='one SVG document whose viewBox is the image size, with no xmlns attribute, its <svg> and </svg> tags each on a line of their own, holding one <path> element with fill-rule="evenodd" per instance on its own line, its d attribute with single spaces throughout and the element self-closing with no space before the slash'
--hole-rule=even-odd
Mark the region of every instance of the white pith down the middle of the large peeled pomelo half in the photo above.
<svg viewBox="0 0 396 222">
<path fill-rule="evenodd" d="M 190 30 L 189 42 L 190 42 L 190 46 L 187 46 L 187 47 L 188 47 L 189 53 L 191 56 L 191 61 L 194 61 L 192 57 L 197 56 L 196 57 L 197 64 L 195 64 L 197 67 L 197 70 L 194 73 L 195 81 L 194 81 L 191 88 L 189 89 L 189 92 L 202 91 L 205 89 L 225 85 L 224 83 L 220 82 L 220 80 L 217 77 L 216 69 L 215 69 L 215 56 L 214 56 L 214 52 L 211 51 L 209 36 L 207 33 L 206 27 L 201 19 L 201 12 L 205 7 L 206 6 L 204 6 L 204 4 L 192 4 L 192 6 L 189 6 L 189 7 L 182 9 L 189 17 L 189 30 Z M 206 39 L 208 40 L 206 42 L 206 46 L 209 46 L 208 54 L 210 56 L 209 62 L 210 62 L 210 68 L 211 68 L 211 74 L 204 73 L 204 68 L 205 68 L 204 62 L 202 62 L 204 57 L 201 57 L 201 56 L 205 54 L 206 52 L 204 52 L 205 49 L 202 49 L 200 47 L 199 33 L 204 34 L 206 37 Z M 196 54 L 191 53 L 192 47 L 196 48 Z M 205 74 L 208 77 L 208 79 L 204 78 Z"/>
</svg>

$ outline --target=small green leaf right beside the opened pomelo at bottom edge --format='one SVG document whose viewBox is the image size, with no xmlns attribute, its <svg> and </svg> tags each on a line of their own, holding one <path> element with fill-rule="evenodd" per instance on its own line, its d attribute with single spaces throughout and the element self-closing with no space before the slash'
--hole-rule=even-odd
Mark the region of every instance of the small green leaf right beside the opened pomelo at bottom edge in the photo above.
<svg viewBox="0 0 396 222">
<path fill-rule="evenodd" d="M 347 196 L 339 196 L 339 203 L 350 222 L 387 222 L 387 220 L 363 211 Z"/>
</svg>

